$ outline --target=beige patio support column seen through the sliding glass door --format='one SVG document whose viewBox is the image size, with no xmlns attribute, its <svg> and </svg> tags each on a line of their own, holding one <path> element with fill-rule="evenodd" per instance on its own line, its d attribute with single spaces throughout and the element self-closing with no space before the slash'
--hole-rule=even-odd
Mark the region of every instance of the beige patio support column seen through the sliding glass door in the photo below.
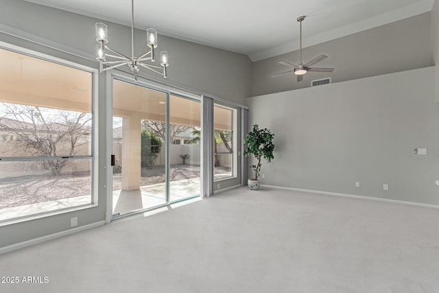
<svg viewBox="0 0 439 293">
<path fill-rule="evenodd" d="M 138 113 L 123 118 L 122 139 L 122 190 L 139 190 L 141 176 L 141 117 Z"/>
</svg>

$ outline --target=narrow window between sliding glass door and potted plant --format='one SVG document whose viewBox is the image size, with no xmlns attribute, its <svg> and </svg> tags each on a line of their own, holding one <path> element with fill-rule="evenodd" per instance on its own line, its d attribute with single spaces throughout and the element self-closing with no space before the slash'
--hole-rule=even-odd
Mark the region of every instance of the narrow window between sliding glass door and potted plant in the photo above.
<svg viewBox="0 0 439 293">
<path fill-rule="evenodd" d="M 215 104 L 213 108 L 214 178 L 221 180 L 237 176 L 237 110 Z"/>
</svg>

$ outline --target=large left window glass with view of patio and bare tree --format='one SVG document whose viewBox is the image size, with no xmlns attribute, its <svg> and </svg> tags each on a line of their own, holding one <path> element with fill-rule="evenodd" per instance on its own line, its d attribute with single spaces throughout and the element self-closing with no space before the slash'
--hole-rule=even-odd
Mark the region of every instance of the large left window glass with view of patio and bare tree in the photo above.
<svg viewBox="0 0 439 293">
<path fill-rule="evenodd" d="M 93 74 L 8 49 L 0 63 L 0 222 L 93 203 Z"/>
</svg>

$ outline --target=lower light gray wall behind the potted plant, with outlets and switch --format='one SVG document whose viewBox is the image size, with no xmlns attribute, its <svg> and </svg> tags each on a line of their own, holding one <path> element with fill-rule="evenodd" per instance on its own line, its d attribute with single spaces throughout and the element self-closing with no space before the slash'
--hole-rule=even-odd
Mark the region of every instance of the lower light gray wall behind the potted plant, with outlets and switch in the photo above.
<svg viewBox="0 0 439 293">
<path fill-rule="evenodd" d="M 439 204 L 434 71 L 248 98 L 249 124 L 275 134 L 274 161 L 263 165 L 261 183 Z M 414 148 L 427 148 L 427 155 Z"/>
</svg>

